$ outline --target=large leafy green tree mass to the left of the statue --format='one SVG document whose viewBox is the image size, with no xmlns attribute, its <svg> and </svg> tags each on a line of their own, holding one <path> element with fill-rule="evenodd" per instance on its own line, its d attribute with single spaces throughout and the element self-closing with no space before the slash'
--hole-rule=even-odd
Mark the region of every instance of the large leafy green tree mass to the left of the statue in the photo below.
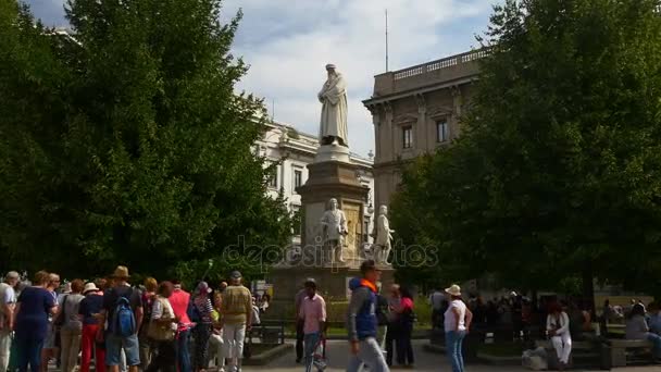
<svg viewBox="0 0 661 372">
<path fill-rule="evenodd" d="M 240 13 L 222 24 L 220 0 L 71 0 L 70 37 L 0 7 L 3 265 L 192 278 L 210 259 L 212 276 L 276 259 L 291 221 L 251 150 L 262 102 L 235 94 Z M 247 261 L 241 239 L 272 253 Z M 242 259 L 227 260 L 233 246 Z"/>
</svg>

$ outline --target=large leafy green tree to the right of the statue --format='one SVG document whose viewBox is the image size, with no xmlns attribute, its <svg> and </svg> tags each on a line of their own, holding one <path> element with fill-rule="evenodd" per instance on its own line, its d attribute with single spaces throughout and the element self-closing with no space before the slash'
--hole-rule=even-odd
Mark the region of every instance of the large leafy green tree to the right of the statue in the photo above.
<svg viewBox="0 0 661 372">
<path fill-rule="evenodd" d="M 593 277 L 658 292 L 659 7 L 496 7 L 462 136 L 407 173 L 396 202 L 413 210 L 394 207 L 395 228 L 416 224 L 463 277 L 529 288 L 578 277 L 586 297 Z"/>
</svg>

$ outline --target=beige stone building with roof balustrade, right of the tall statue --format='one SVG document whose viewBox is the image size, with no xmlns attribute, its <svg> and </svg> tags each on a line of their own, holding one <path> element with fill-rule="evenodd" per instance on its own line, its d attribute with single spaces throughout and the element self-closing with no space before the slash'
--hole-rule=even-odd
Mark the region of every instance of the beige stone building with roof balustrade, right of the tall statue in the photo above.
<svg viewBox="0 0 661 372">
<path fill-rule="evenodd" d="M 459 136 L 485 55 L 475 50 L 374 76 L 374 92 L 363 103 L 374 123 L 376 206 L 389 204 L 406 164 Z"/>
</svg>

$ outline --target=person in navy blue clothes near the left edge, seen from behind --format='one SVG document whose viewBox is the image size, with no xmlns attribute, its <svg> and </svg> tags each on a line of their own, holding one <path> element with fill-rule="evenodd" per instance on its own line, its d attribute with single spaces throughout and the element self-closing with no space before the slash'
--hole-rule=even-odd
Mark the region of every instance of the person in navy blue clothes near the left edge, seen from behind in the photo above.
<svg viewBox="0 0 661 372">
<path fill-rule="evenodd" d="M 18 371 L 32 372 L 41 369 L 41 349 L 46 340 L 48 318 L 58 311 L 55 298 L 47 290 L 49 274 L 39 271 L 35 274 L 35 285 L 26 287 L 18 296 L 15 318 L 15 339 L 18 350 Z"/>
</svg>

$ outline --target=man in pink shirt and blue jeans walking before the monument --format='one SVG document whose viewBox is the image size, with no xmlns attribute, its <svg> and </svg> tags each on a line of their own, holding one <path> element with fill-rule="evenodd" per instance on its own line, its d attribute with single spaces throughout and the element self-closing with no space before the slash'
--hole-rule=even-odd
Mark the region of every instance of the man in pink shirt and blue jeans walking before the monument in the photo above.
<svg viewBox="0 0 661 372">
<path fill-rule="evenodd" d="M 305 372 L 312 371 L 312 356 L 326 331 L 326 302 L 316 294 L 316 282 L 305 281 L 305 298 L 301 303 L 299 319 L 303 322 L 305 345 Z"/>
</svg>

